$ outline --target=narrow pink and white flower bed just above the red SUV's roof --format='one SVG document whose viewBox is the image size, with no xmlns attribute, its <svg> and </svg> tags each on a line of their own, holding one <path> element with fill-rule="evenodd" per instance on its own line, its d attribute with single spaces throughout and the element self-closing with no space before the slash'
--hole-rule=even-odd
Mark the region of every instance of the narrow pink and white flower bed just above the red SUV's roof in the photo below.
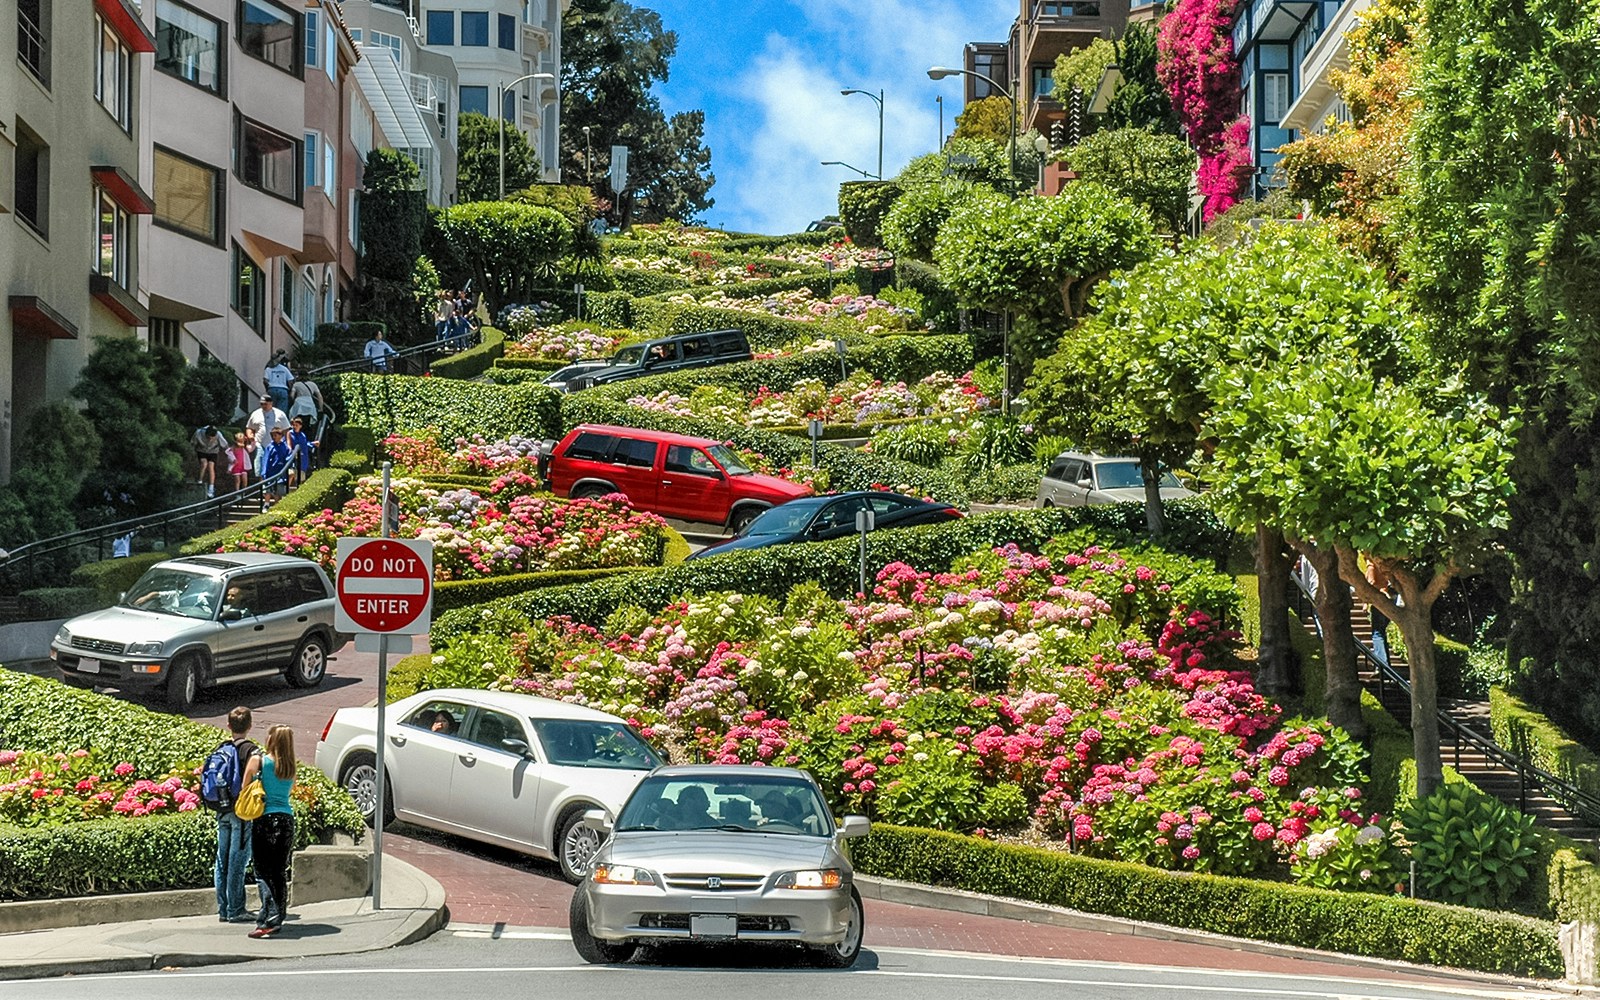
<svg viewBox="0 0 1600 1000">
<path fill-rule="evenodd" d="M 658 392 L 630 397 L 627 403 L 651 413 L 752 427 L 795 427 L 813 418 L 850 426 L 917 416 L 965 421 L 992 406 L 973 384 L 971 373 L 938 373 L 914 384 L 885 384 L 864 371 L 832 386 L 822 379 L 800 379 L 792 389 L 762 386 L 754 395 L 723 386 L 701 386 L 688 395 Z"/>
</svg>

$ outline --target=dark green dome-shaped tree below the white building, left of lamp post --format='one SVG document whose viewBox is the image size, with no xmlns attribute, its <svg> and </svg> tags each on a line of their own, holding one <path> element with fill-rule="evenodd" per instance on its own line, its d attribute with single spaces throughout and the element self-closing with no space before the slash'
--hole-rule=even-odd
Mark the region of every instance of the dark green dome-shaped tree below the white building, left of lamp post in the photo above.
<svg viewBox="0 0 1600 1000">
<path fill-rule="evenodd" d="M 554 208 L 517 202 L 469 202 L 437 216 L 443 240 L 470 270 L 491 314 L 531 302 L 573 246 L 573 226 Z"/>
</svg>

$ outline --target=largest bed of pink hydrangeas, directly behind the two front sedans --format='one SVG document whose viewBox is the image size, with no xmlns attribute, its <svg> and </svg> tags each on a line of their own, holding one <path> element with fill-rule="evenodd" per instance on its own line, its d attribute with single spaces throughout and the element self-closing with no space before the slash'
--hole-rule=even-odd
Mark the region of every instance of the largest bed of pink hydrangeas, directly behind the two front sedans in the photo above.
<svg viewBox="0 0 1600 1000">
<path fill-rule="evenodd" d="M 1032 827 L 1168 869 L 1298 877 L 1296 845 L 1376 822 L 1360 747 L 1282 720 L 1232 667 L 1203 610 L 1230 606 L 1232 581 L 1182 557 L 1045 549 L 941 574 L 894 563 L 867 603 L 800 586 L 784 603 L 622 608 L 603 629 L 550 619 L 494 651 L 496 683 L 622 714 L 680 757 L 805 766 L 838 810 Z M 446 674 L 485 659 L 459 648 L 435 658 Z M 1392 890 L 1374 853 L 1360 882 Z"/>
</svg>

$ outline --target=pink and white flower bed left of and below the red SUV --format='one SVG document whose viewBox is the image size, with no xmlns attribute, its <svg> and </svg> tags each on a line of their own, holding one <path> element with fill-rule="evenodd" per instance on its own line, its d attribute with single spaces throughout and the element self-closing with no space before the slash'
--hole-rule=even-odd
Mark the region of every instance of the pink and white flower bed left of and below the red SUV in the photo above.
<svg viewBox="0 0 1600 1000">
<path fill-rule="evenodd" d="M 418 478 L 390 482 L 400 507 L 397 538 L 434 542 L 434 579 L 483 579 L 546 570 L 597 570 L 661 563 L 666 522 L 618 499 L 563 501 L 512 472 L 483 491 L 435 488 Z M 333 571 L 336 539 L 378 536 L 382 480 L 357 482 L 355 498 L 293 525 L 251 531 L 227 552 L 286 552 Z"/>
</svg>

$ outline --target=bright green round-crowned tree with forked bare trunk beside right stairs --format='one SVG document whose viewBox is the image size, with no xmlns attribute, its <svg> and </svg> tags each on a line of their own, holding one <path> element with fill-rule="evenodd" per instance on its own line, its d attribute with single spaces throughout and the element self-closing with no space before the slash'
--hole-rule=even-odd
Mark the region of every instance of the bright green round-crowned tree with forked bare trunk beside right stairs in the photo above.
<svg viewBox="0 0 1600 1000">
<path fill-rule="evenodd" d="M 1418 797 L 1443 782 L 1434 603 L 1478 565 L 1506 526 L 1515 419 L 1458 379 L 1395 382 L 1350 355 L 1227 376 L 1229 406 L 1211 421 L 1218 493 L 1266 507 L 1293 538 L 1395 624 L 1411 669 Z M 1360 560 L 1400 600 L 1366 581 Z"/>
</svg>

